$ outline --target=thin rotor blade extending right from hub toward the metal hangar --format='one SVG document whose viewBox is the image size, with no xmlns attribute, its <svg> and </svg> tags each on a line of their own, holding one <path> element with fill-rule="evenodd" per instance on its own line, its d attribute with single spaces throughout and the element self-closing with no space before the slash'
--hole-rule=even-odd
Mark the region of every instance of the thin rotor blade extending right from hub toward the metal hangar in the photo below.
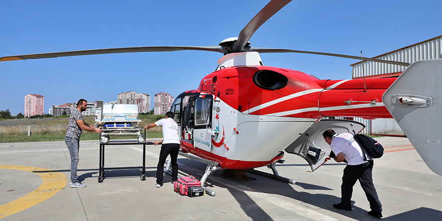
<svg viewBox="0 0 442 221">
<path fill-rule="evenodd" d="M 318 55 L 326 55 L 326 56 L 334 56 L 334 57 L 342 57 L 342 58 L 352 58 L 357 60 L 367 60 L 367 61 L 375 61 L 380 63 L 387 63 L 387 64 L 395 64 L 400 66 L 408 66 L 410 63 L 406 62 L 400 62 L 400 61 L 387 61 L 387 60 L 381 60 L 376 58 L 364 58 L 364 57 L 358 57 L 358 56 L 352 56 L 352 55 L 344 55 L 344 54 L 332 54 L 332 53 L 324 53 L 324 52 L 314 52 L 314 51 L 297 51 L 297 50 L 290 50 L 290 49 L 278 49 L 278 48 L 255 48 L 250 47 L 248 51 L 256 51 L 258 53 L 303 53 L 303 54 L 318 54 Z"/>
</svg>

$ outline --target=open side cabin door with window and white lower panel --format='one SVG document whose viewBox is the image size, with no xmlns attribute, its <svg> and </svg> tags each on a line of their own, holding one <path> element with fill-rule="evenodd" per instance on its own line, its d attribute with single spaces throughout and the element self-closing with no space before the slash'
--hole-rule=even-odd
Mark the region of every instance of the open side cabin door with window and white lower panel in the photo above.
<svg viewBox="0 0 442 221">
<path fill-rule="evenodd" d="M 200 94 L 196 97 L 194 106 L 193 145 L 196 148 L 210 152 L 212 147 L 211 112 L 213 97 Z"/>
</svg>

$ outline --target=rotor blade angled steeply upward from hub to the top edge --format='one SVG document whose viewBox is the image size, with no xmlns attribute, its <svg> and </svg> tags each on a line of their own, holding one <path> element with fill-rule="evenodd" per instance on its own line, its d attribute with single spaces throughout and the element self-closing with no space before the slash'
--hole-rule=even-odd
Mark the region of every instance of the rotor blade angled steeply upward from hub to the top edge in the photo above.
<svg viewBox="0 0 442 221">
<path fill-rule="evenodd" d="M 268 3 L 240 32 L 238 40 L 233 45 L 235 52 L 242 52 L 253 33 L 261 27 L 270 17 L 275 15 L 280 9 L 284 8 L 292 0 L 272 0 Z"/>
</svg>

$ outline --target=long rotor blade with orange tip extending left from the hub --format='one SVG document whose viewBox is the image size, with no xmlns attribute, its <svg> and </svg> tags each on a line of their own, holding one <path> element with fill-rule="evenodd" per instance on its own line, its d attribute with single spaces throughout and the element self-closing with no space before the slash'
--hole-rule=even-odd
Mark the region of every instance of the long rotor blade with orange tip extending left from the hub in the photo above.
<svg viewBox="0 0 442 221">
<path fill-rule="evenodd" d="M 93 55 L 93 54 L 114 54 L 114 53 L 132 53 L 132 52 L 165 52 L 165 51 L 183 51 L 183 50 L 196 50 L 196 51 L 214 51 L 224 53 L 221 46 L 159 46 L 159 47 L 132 47 L 132 48 L 107 48 L 107 49 L 94 49 L 94 50 L 82 50 L 82 51 L 65 51 L 65 52 L 53 52 L 43 54 L 28 54 L 28 55 L 16 55 L 1 57 L 0 61 L 15 61 L 15 60 L 27 60 L 27 59 L 39 59 L 39 58 L 56 58 L 67 56 L 80 56 L 80 55 Z"/>
</svg>

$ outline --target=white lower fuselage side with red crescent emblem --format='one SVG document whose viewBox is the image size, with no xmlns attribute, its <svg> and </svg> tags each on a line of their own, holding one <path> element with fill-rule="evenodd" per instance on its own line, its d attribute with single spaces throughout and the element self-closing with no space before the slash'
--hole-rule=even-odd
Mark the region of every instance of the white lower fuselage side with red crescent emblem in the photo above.
<svg viewBox="0 0 442 221">
<path fill-rule="evenodd" d="M 211 152 L 230 160 L 269 161 L 317 121 L 246 115 L 222 100 L 217 103 L 212 128 L 217 128 L 218 136 L 212 137 Z"/>
</svg>

